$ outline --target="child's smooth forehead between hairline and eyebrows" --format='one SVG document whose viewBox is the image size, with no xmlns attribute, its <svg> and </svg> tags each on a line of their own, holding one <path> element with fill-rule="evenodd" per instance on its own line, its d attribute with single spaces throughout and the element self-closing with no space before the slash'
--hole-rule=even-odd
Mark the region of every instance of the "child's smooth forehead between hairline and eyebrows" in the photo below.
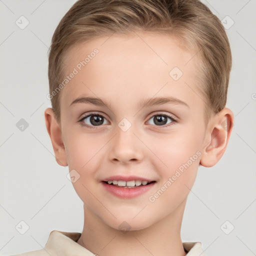
<svg viewBox="0 0 256 256">
<path fill-rule="evenodd" d="M 77 72 L 63 88 L 61 102 L 86 93 L 124 101 L 173 93 L 192 103 L 198 95 L 191 97 L 191 88 L 200 93 L 196 61 L 195 52 L 170 34 L 137 31 L 77 43 L 65 55 L 65 74 Z"/>
</svg>

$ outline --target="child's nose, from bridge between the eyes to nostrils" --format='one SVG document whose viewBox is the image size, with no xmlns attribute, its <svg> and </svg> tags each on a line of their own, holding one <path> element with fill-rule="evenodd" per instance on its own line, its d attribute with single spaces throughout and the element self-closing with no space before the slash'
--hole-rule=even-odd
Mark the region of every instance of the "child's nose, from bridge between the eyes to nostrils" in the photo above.
<svg viewBox="0 0 256 256">
<path fill-rule="evenodd" d="M 142 159 L 141 142 L 135 136 L 135 125 L 123 118 L 117 123 L 109 152 L 110 160 L 128 162 Z"/>
</svg>

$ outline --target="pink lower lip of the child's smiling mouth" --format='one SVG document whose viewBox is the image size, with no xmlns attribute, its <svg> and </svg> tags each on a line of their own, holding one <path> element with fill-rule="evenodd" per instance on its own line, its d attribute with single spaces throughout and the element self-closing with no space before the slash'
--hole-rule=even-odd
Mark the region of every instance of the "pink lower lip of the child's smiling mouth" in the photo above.
<svg viewBox="0 0 256 256">
<path fill-rule="evenodd" d="M 121 186 L 114 186 L 107 184 L 105 182 L 101 182 L 105 189 L 109 191 L 111 194 L 120 197 L 120 198 L 133 198 L 136 197 L 142 193 L 145 193 L 148 191 L 156 182 L 152 182 L 148 185 L 142 185 L 138 187 L 128 188 L 128 187 L 121 187 Z"/>
</svg>

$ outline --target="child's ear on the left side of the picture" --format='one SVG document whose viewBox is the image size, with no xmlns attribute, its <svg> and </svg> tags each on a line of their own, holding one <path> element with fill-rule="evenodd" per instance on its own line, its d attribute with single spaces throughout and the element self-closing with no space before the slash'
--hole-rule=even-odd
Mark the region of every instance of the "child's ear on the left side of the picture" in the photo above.
<svg viewBox="0 0 256 256">
<path fill-rule="evenodd" d="M 61 136 L 60 124 L 57 123 L 55 113 L 52 108 L 48 107 L 44 111 L 45 124 L 57 163 L 61 166 L 67 166 L 65 146 Z"/>
</svg>

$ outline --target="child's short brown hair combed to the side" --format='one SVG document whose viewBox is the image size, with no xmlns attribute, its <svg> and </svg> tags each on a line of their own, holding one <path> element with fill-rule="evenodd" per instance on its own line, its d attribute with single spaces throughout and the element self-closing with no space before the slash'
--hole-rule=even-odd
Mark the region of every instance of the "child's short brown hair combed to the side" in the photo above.
<svg viewBox="0 0 256 256">
<path fill-rule="evenodd" d="M 225 107 L 231 70 L 230 45 L 221 21 L 199 0 L 76 1 L 62 17 L 52 36 L 48 65 L 49 93 L 63 80 L 64 54 L 71 45 L 131 30 L 170 33 L 187 49 L 198 54 L 197 72 L 205 102 L 205 123 L 212 113 Z M 59 94 L 50 98 L 58 122 Z"/>
</svg>

